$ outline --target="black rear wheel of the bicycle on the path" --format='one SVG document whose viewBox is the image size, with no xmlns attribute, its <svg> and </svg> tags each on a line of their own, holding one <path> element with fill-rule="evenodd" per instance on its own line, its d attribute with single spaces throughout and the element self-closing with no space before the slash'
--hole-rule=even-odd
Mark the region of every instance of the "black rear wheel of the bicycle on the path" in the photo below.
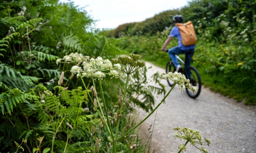
<svg viewBox="0 0 256 153">
<path fill-rule="evenodd" d="M 189 76 L 190 75 L 190 76 Z M 196 87 L 196 93 L 194 94 L 192 90 L 187 89 L 186 88 L 186 92 L 187 94 L 191 97 L 191 98 L 196 98 L 199 96 L 200 92 L 201 92 L 201 87 L 202 87 L 202 82 L 201 82 L 201 77 L 197 71 L 196 68 L 194 67 L 189 67 L 187 69 L 187 73 L 186 73 L 186 78 L 190 79 L 190 85 L 193 85 Z"/>
</svg>

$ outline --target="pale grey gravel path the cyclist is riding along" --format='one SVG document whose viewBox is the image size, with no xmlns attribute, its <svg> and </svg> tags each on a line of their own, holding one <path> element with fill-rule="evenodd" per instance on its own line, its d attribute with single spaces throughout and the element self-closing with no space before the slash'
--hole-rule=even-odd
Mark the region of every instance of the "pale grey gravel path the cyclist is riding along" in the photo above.
<svg viewBox="0 0 256 153">
<path fill-rule="evenodd" d="M 152 67 L 148 69 L 148 76 L 164 71 L 149 62 L 146 62 L 146 66 Z M 167 91 L 170 90 L 166 80 L 162 80 L 162 83 Z M 162 97 L 155 95 L 156 103 Z M 138 112 L 137 121 L 148 115 L 143 110 Z M 208 153 L 256 153 L 256 106 L 245 106 L 243 102 L 236 102 L 208 88 L 202 87 L 200 96 L 192 99 L 175 86 L 166 102 L 140 126 L 140 137 L 144 137 L 144 140 L 148 131 L 152 131 L 153 126 L 151 130 L 148 129 L 154 120 L 151 153 L 153 149 L 155 153 L 178 153 L 179 144 L 185 142 L 174 138 L 172 129 L 176 126 L 197 129 L 203 139 L 209 138 L 210 146 L 203 146 Z M 186 148 L 186 153 L 201 153 L 191 145 Z"/>
</svg>

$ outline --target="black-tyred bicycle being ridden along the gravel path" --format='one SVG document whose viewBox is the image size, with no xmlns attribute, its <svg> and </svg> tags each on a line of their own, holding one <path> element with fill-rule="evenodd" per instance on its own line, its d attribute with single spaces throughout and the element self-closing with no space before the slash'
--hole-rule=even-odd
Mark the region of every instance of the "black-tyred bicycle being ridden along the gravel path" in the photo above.
<svg viewBox="0 0 256 153">
<path fill-rule="evenodd" d="M 168 52 L 168 50 L 167 50 Z M 197 69 L 195 67 L 189 67 L 189 68 L 185 68 L 185 62 L 178 56 L 175 55 L 177 57 L 177 59 L 179 60 L 179 62 L 182 63 L 182 74 L 184 74 L 186 76 L 186 79 L 190 80 L 190 84 L 196 87 L 196 93 L 194 94 L 193 91 L 189 90 L 186 88 L 186 92 L 187 94 L 191 97 L 191 98 L 196 98 L 199 96 L 200 92 L 201 92 L 201 87 L 202 87 L 202 82 L 201 82 L 201 77 L 199 72 L 197 71 Z M 169 62 L 167 62 L 166 64 L 166 73 L 168 74 L 169 72 L 174 73 L 175 72 L 175 66 L 173 64 L 173 61 L 170 60 Z M 189 77 L 190 75 L 190 77 Z M 167 82 L 170 86 L 173 86 L 174 82 L 171 81 L 170 79 L 167 79 Z"/>
</svg>

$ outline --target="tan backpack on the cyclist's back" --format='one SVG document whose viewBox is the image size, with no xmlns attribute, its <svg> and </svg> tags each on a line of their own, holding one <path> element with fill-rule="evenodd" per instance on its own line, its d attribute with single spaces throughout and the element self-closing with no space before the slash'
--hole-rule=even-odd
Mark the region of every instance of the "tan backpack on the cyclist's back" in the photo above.
<svg viewBox="0 0 256 153">
<path fill-rule="evenodd" d="M 176 26 L 179 28 L 179 33 L 181 35 L 182 44 L 195 45 L 196 44 L 196 33 L 191 21 L 187 23 L 176 23 Z"/>
</svg>

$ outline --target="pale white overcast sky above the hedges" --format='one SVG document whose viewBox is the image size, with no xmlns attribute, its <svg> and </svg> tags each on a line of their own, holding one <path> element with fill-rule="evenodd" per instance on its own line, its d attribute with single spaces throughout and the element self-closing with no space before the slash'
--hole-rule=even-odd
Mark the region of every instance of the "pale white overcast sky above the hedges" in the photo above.
<svg viewBox="0 0 256 153">
<path fill-rule="evenodd" d="M 60 0 L 65 2 L 68 0 Z M 70 0 L 84 7 L 94 28 L 117 28 L 124 23 L 141 22 L 162 11 L 181 8 L 190 0 Z M 171 19 L 171 18 L 170 18 Z"/>
</svg>

